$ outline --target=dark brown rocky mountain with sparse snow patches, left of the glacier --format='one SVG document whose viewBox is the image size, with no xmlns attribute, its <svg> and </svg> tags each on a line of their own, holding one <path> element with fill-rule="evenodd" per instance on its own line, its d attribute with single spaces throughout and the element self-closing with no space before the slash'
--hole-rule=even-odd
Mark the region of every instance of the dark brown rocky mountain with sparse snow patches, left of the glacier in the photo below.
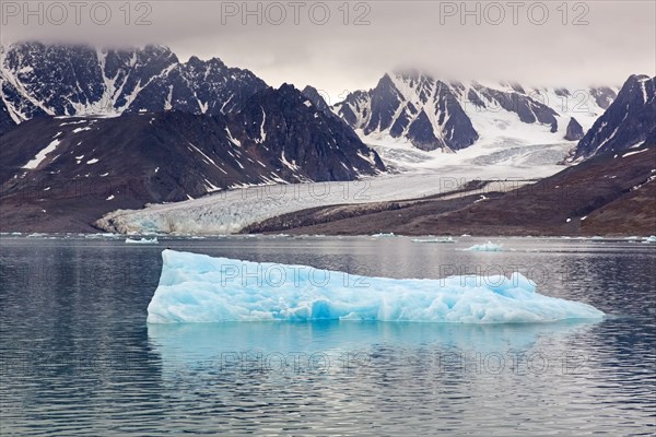
<svg viewBox="0 0 656 437">
<path fill-rule="evenodd" d="M 37 117 L 2 143 L 2 231 L 90 231 L 117 209 L 384 169 L 345 123 L 291 85 L 266 88 L 225 116 Z"/>
</svg>

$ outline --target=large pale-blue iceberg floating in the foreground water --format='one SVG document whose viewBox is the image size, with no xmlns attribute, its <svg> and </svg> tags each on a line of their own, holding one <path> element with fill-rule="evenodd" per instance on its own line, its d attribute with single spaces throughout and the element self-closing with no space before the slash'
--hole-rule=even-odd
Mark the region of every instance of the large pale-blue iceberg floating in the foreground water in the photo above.
<svg viewBox="0 0 656 437">
<path fill-rule="evenodd" d="M 582 303 L 543 296 L 519 273 L 441 280 L 370 277 L 307 265 L 164 250 L 149 323 L 378 320 L 455 323 L 600 319 Z"/>
</svg>

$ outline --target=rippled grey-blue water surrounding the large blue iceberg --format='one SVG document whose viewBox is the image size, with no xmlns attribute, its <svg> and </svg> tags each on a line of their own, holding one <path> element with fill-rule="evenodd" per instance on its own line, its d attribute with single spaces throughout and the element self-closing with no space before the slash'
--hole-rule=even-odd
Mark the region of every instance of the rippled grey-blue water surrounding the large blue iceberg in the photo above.
<svg viewBox="0 0 656 437">
<path fill-rule="evenodd" d="M 0 434 L 654 435 L 656 245 L 0 239 Z M 148 326 L 164 247 L 359 275 L 531 277 L 600 322 Z"/>
</svg>

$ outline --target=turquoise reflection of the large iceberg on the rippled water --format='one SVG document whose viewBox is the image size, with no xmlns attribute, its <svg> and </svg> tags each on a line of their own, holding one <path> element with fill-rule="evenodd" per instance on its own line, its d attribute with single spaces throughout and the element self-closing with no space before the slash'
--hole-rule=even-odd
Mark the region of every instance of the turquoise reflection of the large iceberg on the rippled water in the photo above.
<svg viewBox="0 0 656 437">
<path fill-rule="evenodd" d="M 238 379 L 245 374 L 371 374 L 390 366 L 464 377 L 471 370 L 516 373 L 524 367 L 539 374 L 577 366 L 581 357 L 569 349 L 570 340 L 588 335 L 595 324 L 180 323 L 149 324 L 148 338 L 161 357 L 164 380 L 190 369 Z"/>
</svg>

